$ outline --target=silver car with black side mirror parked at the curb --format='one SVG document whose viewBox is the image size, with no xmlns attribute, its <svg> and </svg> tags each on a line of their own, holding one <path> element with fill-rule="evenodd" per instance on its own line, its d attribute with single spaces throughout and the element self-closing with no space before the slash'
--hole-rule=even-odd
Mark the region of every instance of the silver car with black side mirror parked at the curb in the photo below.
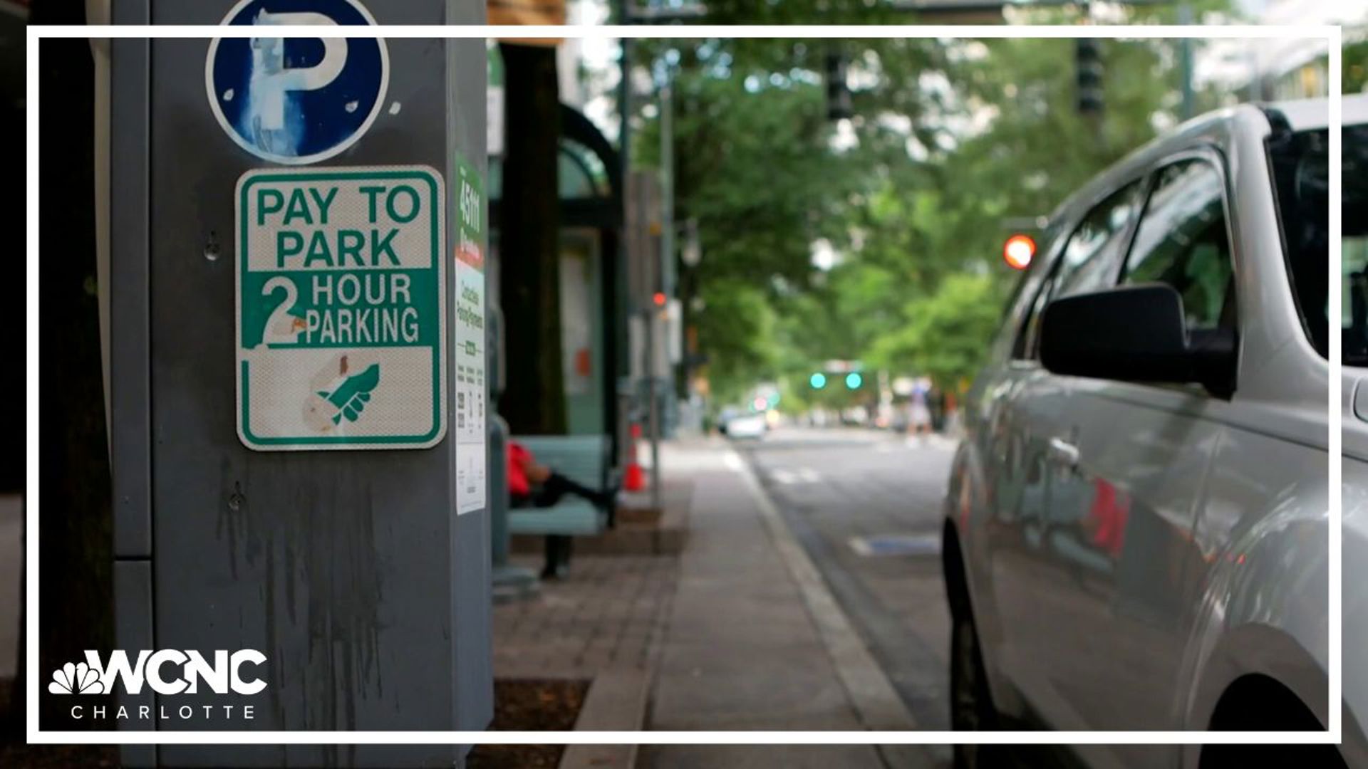
<svg viewBox="0 0 1368 769">
<path fill-rule="evenodd" d="M 1326 101 L 1198 118 L 1052 215 L 949 480 L 955 728 L 1328 724 L 1327 120 Z M 1364 123 L 1368 97 L 1345 99 L 1346 367 L 1368 365 Z M 1345 743 L 1074 758 L 1368 766 L 1368 371 L 1345 371 Z"/>
</svg>

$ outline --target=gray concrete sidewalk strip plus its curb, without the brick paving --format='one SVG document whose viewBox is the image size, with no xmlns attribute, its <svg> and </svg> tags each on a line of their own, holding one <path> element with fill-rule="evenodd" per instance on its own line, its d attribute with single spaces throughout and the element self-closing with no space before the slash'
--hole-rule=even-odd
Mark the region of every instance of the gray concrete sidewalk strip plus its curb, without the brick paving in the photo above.
<svg viewBox="0 0 1368 769">
<path fill-rule="evenodd" d="M 892 684 L 724 441 L 670 446 L 694 486 L 689 536 L 651 688 L 648 728 L 911 729 Z M 881 757 L 882 753 L 882 757 Z M 646 746 L 637 766 L 926 766 L 871 746 Z"/>
</svg>

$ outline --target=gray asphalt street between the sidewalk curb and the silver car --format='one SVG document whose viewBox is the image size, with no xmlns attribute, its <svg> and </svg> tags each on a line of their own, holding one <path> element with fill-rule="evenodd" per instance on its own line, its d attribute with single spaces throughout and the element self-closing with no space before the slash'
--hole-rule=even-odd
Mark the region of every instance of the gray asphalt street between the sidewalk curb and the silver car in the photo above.
<svg viewBox="0 0 1368 769">
<path fill-rule="evenodd" d="M 922 729 L 948 729 L 941 499 L 953 442 L 778 428 L 737 442 Z"/>
</svg>

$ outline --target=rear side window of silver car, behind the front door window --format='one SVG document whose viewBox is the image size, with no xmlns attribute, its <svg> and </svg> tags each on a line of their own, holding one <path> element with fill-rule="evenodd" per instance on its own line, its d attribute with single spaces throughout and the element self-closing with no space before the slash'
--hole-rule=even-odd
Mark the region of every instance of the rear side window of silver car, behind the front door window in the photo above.
<svg viewBox="0 0 1368 769">
<path fill-rule="evenodd" d="M 1051 265 L 1051 275 L 1036 293 L 1036 301 L 1016 337 L 1012 357 L 1036 357 L 1040 319 L 1051 300 L 1111 285 L 1126 233 L 1140 209 L 1142 189 L 1140 181 L 1126 185 L 1094 205 L 1074 227 L 1068 242 Z"/>
</svg>

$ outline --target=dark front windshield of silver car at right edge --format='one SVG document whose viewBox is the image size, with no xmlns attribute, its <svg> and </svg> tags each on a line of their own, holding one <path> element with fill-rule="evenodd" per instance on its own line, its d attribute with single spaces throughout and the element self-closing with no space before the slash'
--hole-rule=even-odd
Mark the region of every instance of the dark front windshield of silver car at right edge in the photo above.
<svg viewBox="0 0 1368 769">
<path fill-rule="evenodd" d="M 1368 126 L 1345 126 L 1341 163 L 1345 365 L 1368 365 Z M 1287 270 L 1312 345 L 1330 354 L 1330 134 L 1293 133 L 1270 142 Z"/>
</svg>

